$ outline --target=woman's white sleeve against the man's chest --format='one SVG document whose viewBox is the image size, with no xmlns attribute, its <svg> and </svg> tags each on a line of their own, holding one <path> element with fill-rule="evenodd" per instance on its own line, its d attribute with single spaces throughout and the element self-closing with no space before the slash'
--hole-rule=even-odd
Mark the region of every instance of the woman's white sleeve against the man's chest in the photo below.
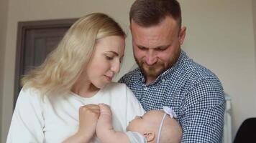
<svg viewBox="0 0 256 143">
<path fill-rule="evenodd" d="M 132 93 L 132 91 L 126 87 L 127 89 L 127 124 L 132 119 L 134 119 L 135 116 L 142 116 L 145 114 L 145 110 L 143 109 L 142 105 L 138 101 L 138 99 L 135 97 L 135 95 Z"/>
</svg>

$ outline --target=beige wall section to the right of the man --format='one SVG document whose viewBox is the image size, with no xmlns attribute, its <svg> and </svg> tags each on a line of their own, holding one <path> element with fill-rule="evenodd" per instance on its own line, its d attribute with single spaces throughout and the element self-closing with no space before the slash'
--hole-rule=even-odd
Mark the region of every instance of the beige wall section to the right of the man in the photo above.
<svg viewBox="0 0 256 143">
<path fill-rule="evenodd" d="M 255 3 L 255 2 L 254 2 Z M 232 98 L 232 134 L 256 117 L 255 38 L 251 0 L 180 0 L 188 26 L 183 49 L 218 75 Z"/>
</svg>

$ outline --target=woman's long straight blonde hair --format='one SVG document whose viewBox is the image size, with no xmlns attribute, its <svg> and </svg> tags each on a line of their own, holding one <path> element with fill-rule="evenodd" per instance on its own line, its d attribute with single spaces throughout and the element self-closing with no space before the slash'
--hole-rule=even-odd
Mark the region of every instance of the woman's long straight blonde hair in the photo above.
<svg viewBox="0 0 256 143">
<path fill-rule="evenodd" d="M 126 34 L 106 14 L 93 13 L 78 19 L 44 63 L 22 78 L 23 88 L 33 87 L 40 94 L 65 93 L 76 83 L 91 59 L 96 41 L 106 36 Z"/>
</svg>

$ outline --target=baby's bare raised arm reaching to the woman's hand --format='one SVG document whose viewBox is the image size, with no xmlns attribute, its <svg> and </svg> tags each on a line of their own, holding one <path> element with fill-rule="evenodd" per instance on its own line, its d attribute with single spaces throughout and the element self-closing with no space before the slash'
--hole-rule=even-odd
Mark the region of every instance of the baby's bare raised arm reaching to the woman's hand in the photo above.
<svg viewBox="0 0 256 143">
<path fill-rule="evenodd" d="M 118 143 L 124 142 L 129 143 L 129 138 L 124 132 L 114 131 L 113 125 L 111 123 L 111 109 L 106 104 L 99 104 L 101 114 L 99 116 L 99 121 L 96 127 L 97 137 L 102 143 Z"/>
</svg>

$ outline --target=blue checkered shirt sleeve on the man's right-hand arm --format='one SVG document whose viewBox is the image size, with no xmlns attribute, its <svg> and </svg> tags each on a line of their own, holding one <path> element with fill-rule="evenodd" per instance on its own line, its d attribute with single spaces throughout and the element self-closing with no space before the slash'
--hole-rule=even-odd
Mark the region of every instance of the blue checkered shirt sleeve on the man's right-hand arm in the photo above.
<svg viewBox="0 0 256 143">
<path fill-rule="evenodd" d="M 225 99 L 214 78 L 198 81 L 186 95 L 181 109 L 182 143 L 221 142 Z"/>
</svg>

